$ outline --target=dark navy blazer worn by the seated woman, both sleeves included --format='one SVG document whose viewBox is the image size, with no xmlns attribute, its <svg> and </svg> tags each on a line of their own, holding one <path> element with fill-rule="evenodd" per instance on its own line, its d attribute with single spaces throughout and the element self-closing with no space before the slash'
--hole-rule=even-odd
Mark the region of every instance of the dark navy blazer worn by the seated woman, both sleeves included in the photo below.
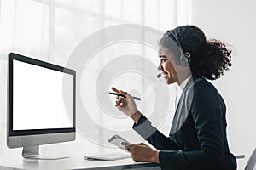
<svg viewBox="0 0 256 170">
<path fill-rule="evenodd" d="M 177 105 L 169 137 L 145 116 L 133 129 L 157 150 L 162 169 L 233 170 L 226 135 L 226 106 L 216 88 L 204 78 L 189 80 Z"/>
</svg>

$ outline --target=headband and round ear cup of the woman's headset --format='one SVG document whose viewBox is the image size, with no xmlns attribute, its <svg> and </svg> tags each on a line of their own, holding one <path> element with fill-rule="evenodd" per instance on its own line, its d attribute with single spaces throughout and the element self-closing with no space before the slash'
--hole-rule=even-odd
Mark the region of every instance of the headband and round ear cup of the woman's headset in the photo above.
<svg viewBox="0 0 256 170">
<path fill-rule="evenodd" d="M 169 32 L 172 33 L 173 37 L 176 39 L 176 42 L 177 42 L 176 44 L 180 51 L 179 64 L 182 66 L 189 66 L 191 59 L 188 54 L 184 54 L 183 48 L 178 40 L 176 30 L 174 29 L 172 31 L 168 31 L 168 33 Z"/>
</svg>

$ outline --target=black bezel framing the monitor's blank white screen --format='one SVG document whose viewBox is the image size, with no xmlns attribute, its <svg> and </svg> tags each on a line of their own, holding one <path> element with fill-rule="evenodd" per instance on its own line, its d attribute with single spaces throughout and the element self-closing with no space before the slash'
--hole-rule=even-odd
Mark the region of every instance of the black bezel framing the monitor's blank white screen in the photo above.
<svg viewBox="0 0 256 170">
<path fill-rule="evenodd" d="M 29 130 L 13 130 L 13 69 L 14 60 L 24 62 L 26 64 L 38 65 L 50 70 L 64 72 L 73 75 L 73 127 L 70 128 L 47 128 L 47 129 L 29 129 Z M 26 135 L 39 135 L 39 134 L 51 134 L 51 133 L 75 133 L 76 125 L 76 71 L 62 67 L 60 65 L 54 65 L 42 60 L 32 59 L 21 54 L 10 53 L 9 54 L 9 107 L 8 107 L 8 133 L 9 137 L 26 136 Z"/>
</svg>

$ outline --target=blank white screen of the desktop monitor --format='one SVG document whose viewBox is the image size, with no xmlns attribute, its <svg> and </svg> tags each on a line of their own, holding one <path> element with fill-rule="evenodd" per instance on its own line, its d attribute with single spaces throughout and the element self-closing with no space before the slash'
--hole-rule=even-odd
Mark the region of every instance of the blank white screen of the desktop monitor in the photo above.
<svg viewBox="0 0 256 170">
<path fill-rule="evenodd" d="M 13 130 L 73 127 L 73 75 L 14 60 Z M 68 79 L 64 105 L 63 76 Z"/>
</svg>

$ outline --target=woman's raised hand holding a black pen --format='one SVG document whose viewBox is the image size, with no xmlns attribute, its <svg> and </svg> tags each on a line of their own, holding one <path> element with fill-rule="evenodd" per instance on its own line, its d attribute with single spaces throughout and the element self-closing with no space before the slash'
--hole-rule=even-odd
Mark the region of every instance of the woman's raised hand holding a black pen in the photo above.
<svg viewBox="0 0 256 170">
<path fill-rule="evenodd" d="M 134 122 L 137 122 L 139 117 L 141 116 L 141 113 L 137 110 L 137 106 L 132 96 L 122 90 L 118 90 L 113 87 L 111 89 L 117 94 L 125 95 L 125 98 L 123 97 L 116 98 L 117 100 L 116 100 L 115 106 L 119 109 L 119 111 L 122 111 L 123 113 L 125 113 L 125 115 L 131 116 Z"/>
</svg>

